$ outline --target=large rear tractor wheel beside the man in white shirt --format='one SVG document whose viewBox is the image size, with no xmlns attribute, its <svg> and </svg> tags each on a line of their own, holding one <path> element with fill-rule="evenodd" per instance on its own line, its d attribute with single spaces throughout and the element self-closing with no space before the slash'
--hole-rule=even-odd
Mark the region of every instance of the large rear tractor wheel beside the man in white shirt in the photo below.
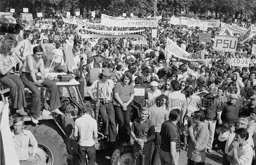
<svg viewBox="0 0 256 165">
<path fill-rule="evenodd" d="M 67 148 L 62 137 L 54 129 L 42 124 L 39 126 L 26 126 L 38 143 L 34 165 L 67 165 Z"/>
</svg>

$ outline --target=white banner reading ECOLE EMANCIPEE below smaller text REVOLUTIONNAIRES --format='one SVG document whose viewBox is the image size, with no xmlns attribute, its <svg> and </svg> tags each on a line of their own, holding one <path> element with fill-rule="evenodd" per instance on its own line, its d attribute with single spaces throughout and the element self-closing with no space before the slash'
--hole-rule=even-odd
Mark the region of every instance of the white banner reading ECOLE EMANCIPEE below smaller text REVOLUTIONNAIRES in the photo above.
<svg viewBox="0 0 256 165">
<path fill-rule="evenodd" d="M 150 18 L 122 18 L 101 14 L 101 25 L 110 27 L 157 27 L 159 16 Z"/>
</svg>

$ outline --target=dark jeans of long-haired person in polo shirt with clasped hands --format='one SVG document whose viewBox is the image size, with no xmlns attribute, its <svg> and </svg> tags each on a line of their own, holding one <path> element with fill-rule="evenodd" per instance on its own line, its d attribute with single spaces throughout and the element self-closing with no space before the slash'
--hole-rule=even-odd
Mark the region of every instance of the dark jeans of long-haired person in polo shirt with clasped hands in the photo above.
<svg viewBox="0 0 256 165">
<path fill-rule="evenodd" d="M 129 142 L 130 136 L 130 118 L 131 118 L 131 105 L 127 106 L 127 110 L 124 111 L 122 107 L 114 106 L 114 112 L 118 122 L 118 135 L 120 142 Z"/>
</svg>

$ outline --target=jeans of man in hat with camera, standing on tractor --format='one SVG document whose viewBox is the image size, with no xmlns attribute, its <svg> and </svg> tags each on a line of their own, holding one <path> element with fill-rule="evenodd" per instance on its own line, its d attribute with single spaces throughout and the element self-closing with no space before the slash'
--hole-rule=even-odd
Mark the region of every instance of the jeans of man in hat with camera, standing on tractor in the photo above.
<svg viewBox="0 0 256 165">
<path fill-rule="evenodd" d="M 117 126 L 114 122 L 114 107 L 112 103 L 100 103 L 100 114 L 103 122 L 102 133 L 108 136 L 108 141 L 115 142 L 117 137 Z"/>
</svg>

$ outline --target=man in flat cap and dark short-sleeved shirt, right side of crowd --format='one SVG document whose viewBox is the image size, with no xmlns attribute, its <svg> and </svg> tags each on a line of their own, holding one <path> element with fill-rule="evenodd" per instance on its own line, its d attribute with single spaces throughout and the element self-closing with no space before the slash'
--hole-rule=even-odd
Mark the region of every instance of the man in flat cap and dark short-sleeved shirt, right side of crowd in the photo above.
<svg viewBox="0 0 256 165">
<path fill-rule="evenodd" d="M 237 103 L 237 95 L 230 94 L 229 101 L 222 104 L 217 108 L 217 119 L 219 124 L 223 125 L 223 130 L 227 131 L 230 129 L 231 125 L 235 125 L 238 119 L 240 104 Z"/>
</svg>

